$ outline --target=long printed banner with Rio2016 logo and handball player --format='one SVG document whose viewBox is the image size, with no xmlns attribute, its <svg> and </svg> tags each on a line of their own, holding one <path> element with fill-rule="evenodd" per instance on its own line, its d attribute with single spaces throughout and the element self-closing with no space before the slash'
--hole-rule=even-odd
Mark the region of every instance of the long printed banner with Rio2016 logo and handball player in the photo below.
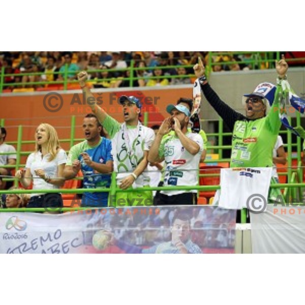
<svg viewBox="0 0 305 305">
<path fill-rule="evenodd" d="M 234 253 L 234 210 L 216 206 L 0 213 L 0 253 Z"/>
</svg>

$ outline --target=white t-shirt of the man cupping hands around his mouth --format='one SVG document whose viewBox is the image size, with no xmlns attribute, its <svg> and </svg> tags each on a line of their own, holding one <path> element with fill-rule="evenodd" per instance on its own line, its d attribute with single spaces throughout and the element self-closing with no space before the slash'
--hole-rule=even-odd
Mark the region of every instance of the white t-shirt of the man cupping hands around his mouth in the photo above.
<svg viewBox="0 0 305 305">
<path fill-rule="evenodd" d="M 197 186 L 198 168 L 203 149 L 202 137 L 197 133 L 188 132 L 186 136 L 196 142 L 200 149 L 193 156 L 189 153 L 176 135 L 164 136 L 162 138 L 159 157 L 164 157 L 165 174 L 164 186 Z M 161 191 L 160 193 L 172 196 L 185 193 L 186 191 Z M 197 193 L 197 190 L 188 192 Z"/>
</svg>

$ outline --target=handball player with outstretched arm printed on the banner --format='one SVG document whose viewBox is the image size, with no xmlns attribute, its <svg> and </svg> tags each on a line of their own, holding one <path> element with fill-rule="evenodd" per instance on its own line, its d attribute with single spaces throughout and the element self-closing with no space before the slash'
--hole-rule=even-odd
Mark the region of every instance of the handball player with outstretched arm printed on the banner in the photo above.
<svg viewBox="0 0 305 305">
<path fill-rule="evenodd" d="M 109 244 L 124 250 L 126 253 L 141 254 L 199 254 L 202 253 L 196 243 L 191 240 L 190 217 L 186 213 L 180 212 L 173 218 L 171 231 L 171 240 L 159 243 L 150 248 L 142 249 L 135 245 L 114 238 L 110 232 L 104 231 L 109 238 Z M 155 239 L 156 240 L 156 239 Z M 153 241 L 153 240 L 152 240 Z"/>
</svg>

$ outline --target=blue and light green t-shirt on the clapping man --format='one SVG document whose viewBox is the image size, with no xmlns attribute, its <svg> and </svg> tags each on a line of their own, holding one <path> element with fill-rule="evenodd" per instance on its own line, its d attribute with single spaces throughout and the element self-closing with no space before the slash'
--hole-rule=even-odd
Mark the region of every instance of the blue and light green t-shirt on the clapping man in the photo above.
<svg viewBox="0 0 305 305">
<path fill-rule="evenodd" d="M 92 167 L 86 165 L 86 163 L 83 162 L 81 153 L 87 153 L 93 162 L 106 164 L 107 161 L 113 161 L 111 155 L 111 141 L 106 138 L 101 138 L 101 141 L 95 147 L 90 147 L 86 140 L 78 143 L 71 147 L 67 161 L 67 165 L 71 166 L 74 160 L 79 160 L 81 162 L 81 170 L 84 175 L 84 189 L 109 188 L 111 175 L 98 173 Z M 107 206 L 107 203 L 108 192 L 84 193 L 81 205 Z"/>
</svg>

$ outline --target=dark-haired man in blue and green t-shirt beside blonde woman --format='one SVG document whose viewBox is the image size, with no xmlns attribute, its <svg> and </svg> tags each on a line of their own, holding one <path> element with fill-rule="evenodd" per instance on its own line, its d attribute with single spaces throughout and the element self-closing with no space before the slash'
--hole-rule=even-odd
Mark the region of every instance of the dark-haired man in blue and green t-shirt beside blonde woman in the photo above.
<svg viewBox="0 0 305 305">
<path fill-rule="evenodd" d="M 84 189 L 109 188 L 110 174 L 113 171 L 111 155 L 111 141 L 101 137 L 102 125 L 93 113 L 89 113 L 83 120 L 85 140 L 72 146 L 64 170 L 66 179 L 73 179 L 78 172 L 83 172 Z M 84 193 L 82 206 L 107 206 L 108 193 Z"/>
</svg>

